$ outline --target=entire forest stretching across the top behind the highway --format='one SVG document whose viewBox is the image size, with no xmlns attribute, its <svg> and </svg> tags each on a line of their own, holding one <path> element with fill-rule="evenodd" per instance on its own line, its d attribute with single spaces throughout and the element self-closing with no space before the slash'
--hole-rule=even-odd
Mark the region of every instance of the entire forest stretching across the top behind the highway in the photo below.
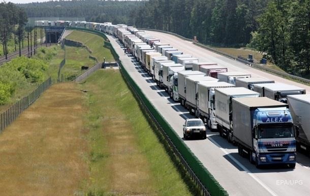
<svg viewBox="0 0 310 196">
<path fill-rule="evenodd" d="M 28 17 L 158 29 L 224 47 L 251 47 L 294 75 L 310 77 L 310 0 L 55 1 L 18 4 Z"/>
</svg>

